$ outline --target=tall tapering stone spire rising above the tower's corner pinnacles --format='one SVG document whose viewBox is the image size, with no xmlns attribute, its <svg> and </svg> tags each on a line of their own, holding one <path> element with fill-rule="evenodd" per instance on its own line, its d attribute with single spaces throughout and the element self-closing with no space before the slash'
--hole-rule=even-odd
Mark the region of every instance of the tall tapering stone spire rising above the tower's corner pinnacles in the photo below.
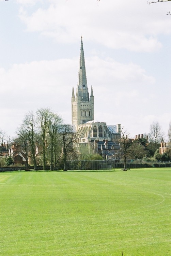
<svg viewBox="0 0 171 256">
<path fill-rule="evenodd" d="M 81 37 L 81 49 L 80 49 L 80 63 L 79 63 L 79 73 L 78 73 L 78 88 L 82 89 L 82 86 L 87 88 L 87 77 L 86 77 L 86 66 L 84 60 L 84 50 Z"/>
</svg>

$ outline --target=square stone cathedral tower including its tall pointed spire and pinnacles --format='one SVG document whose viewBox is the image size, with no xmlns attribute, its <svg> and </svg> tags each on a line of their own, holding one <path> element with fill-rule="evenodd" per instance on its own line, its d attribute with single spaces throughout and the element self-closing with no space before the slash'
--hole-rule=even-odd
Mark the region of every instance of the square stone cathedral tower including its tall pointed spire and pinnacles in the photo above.
<svg viewBox="0 0 171 256">
<path fill-rule="evenodd" d="M 93 87 L 91 86 L 91 94 L 89 97 L 82 37 L 81 37 L 80 63 L 79 63 L 78 85 L 76 90 L 76 97 L 74 94 L 74 87 L 73 87 L 71 102 L 72 102 L 72 124 L 75 125 L 77 130 L 80 124 L 84 124 L 88 121 L 94 120 Z"/>
</svg>

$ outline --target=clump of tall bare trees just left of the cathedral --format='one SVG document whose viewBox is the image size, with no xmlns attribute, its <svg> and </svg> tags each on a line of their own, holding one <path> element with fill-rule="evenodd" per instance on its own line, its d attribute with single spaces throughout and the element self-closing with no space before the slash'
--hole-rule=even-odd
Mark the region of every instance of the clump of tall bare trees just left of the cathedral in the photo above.
<svg viewBox="0 0 171 256">
<path fill-rule="evenodd" d="M 49 108 L 27 113 L 16 133 L 15 143 L 23 147 L 26 155 L 26 169 L 29 169 L 30 158 L 34 170 L 42 164 L 44 170 L 47 165 L 50 165 L 50 170 L 57 170 L 59 161 L 63 161 L 66 171 L 66 160 L 76 157 L 72 126 L 64 124 L 62 117 Z"/>
</svg>

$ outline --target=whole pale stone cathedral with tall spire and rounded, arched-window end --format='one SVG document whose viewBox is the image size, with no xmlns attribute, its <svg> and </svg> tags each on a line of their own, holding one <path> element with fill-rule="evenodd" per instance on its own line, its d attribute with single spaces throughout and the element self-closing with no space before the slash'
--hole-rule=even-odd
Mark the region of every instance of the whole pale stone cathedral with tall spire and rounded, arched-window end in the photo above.
<svg viewBox="0 0 171 256">
<path fill-rule="evenodd" d="M 84 50 L 81 37 L 78 85 L 76 94 L 72 90 L 72 126 L 74 131 L 74 147 L 79 151 L 80 145 L 91 145 L 95 153 L 103 159 L 119 159 L 121 125 L 107 125 L 94 120 L 93 87 L 89 95 L 87 84 Z"/>
</svg>

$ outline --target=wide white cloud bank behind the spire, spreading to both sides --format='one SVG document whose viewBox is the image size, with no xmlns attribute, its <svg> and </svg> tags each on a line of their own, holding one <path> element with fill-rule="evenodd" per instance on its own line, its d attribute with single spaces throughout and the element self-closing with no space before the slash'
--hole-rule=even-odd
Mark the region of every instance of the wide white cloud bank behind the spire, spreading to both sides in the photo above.
<svg viewBox="0 0 171 256">
<path fill-rule="evenodd" d="M 5 95 L 8 91 L 6 97 L 1 99 L 2 119 L 8 120 L 9 113 L 15 116 L 15 122 L 10 125 L 11 132 L 19 126 L 28 111 L 44 106 L 51 107 L 53 111 L 61 114 L 66 122 L 70 122 L 69 99 L 72 86 L 76 92 L 78 63 L 79 57 L 14 64 L 8 71 L 0 69 L 1 94 Z M 131 106 L 131 102 L 140 100 L 140 91 L 136 88 L 137 81 L 139 84 L 154 83 L 153 77 L 147 76 L 143 69 L 133 63 L 123 65 L 111 58 L 103 60 L 92 57 L 87 60 L 87 67 L 87 70 L 91 70 L 88 71 L 88 83 L 94 82 L 95 109 L 99 108 L 105 97 L 108 99 L 105 105 L 109 109 L 111 104 L 118 108 L 124 98 L 129 99 Z M 130 90 L 129 87 L 121 85 L 129 83 L 135 88 Z M 112 113 L 112 109 L 110 112 Z"/>
</svg>

